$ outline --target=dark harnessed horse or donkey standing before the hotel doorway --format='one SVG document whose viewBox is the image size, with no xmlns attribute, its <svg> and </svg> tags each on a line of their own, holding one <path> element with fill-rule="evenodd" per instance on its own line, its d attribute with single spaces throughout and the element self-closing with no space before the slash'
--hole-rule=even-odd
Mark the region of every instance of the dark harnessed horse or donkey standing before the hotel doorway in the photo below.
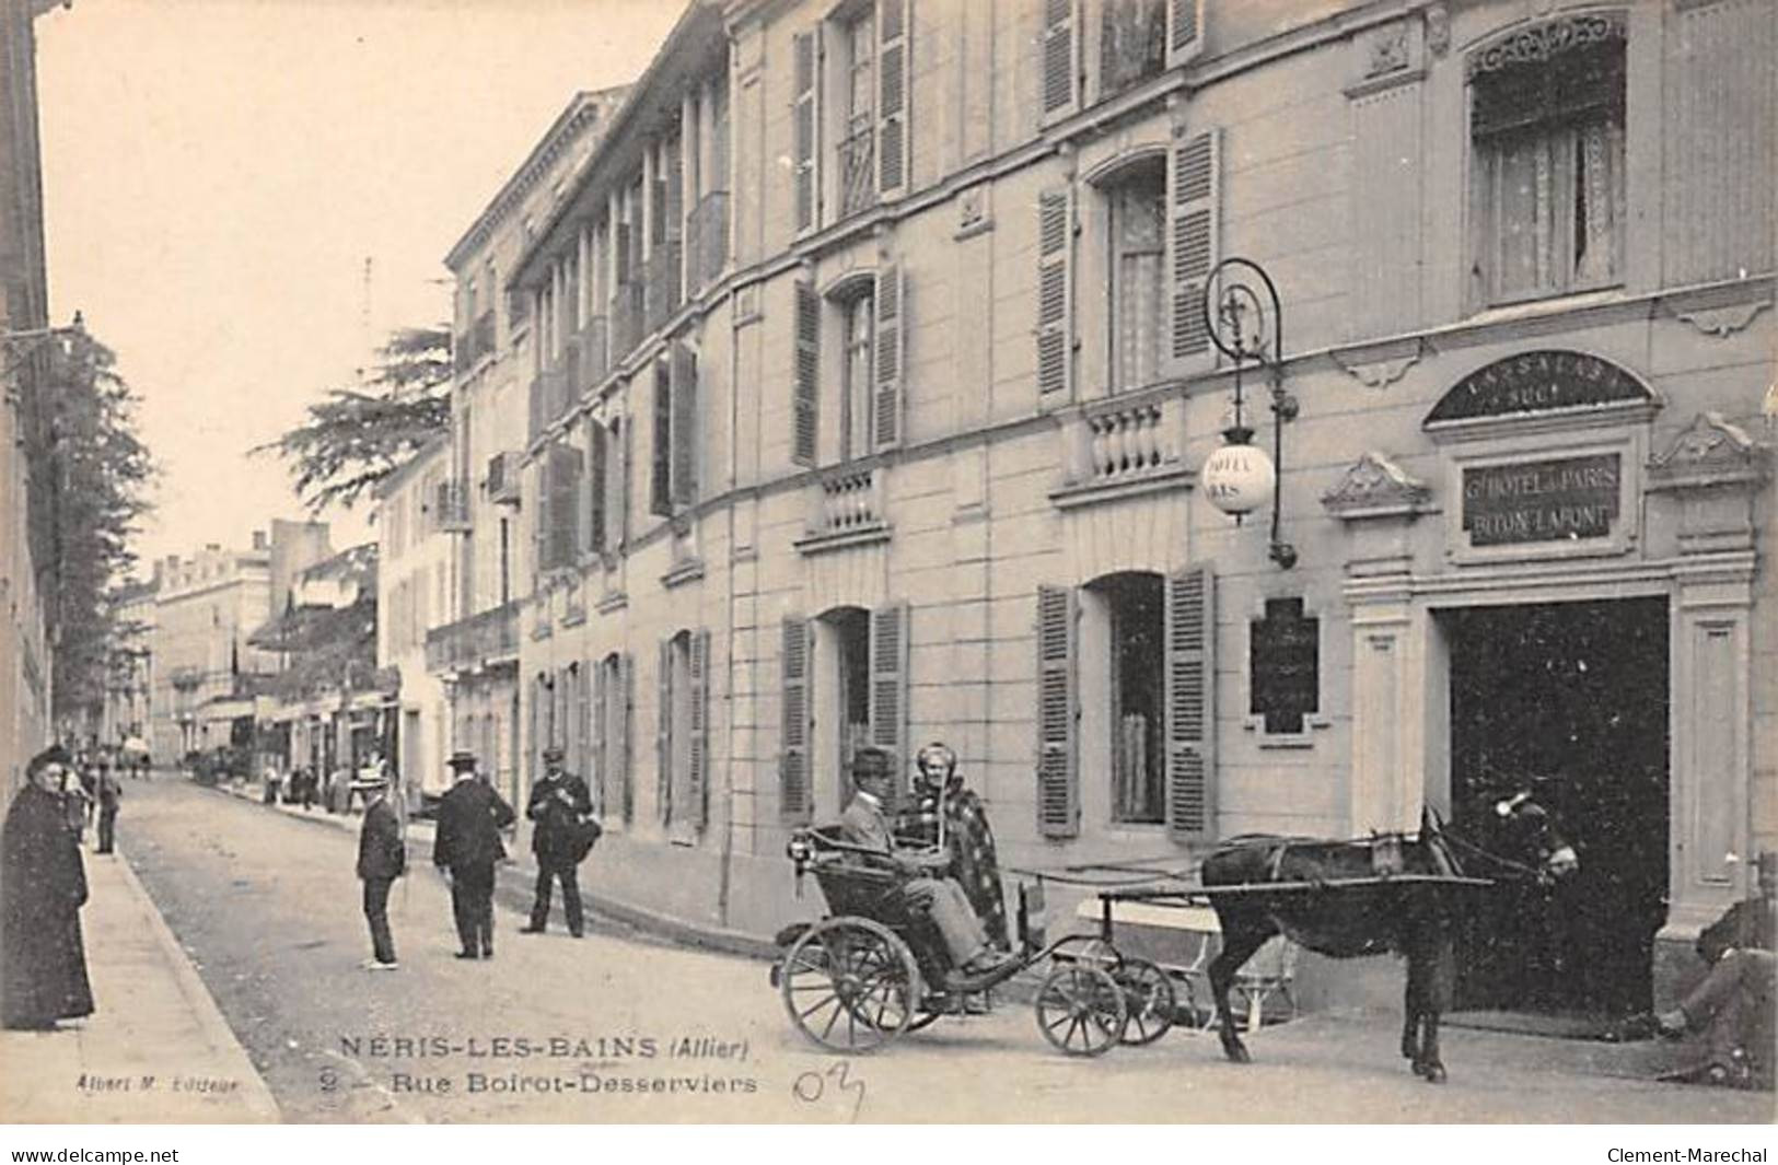
<svg viewBox="0 0 1778 1165">
<path fill-rule="evenodd" d="M 1497 800 L 1476 816 L 1479 824 L 1465 827 L 1467 838 L 1424 811 L 1419 836 L 1326 841 L 1245 834 L 1205 857 L 1200 877 L 1223 934 L 1221 953 L 1209 966 L 1223 1055 L 1236 1064 L 1250 1060 L 1234 1030 L 1229 985 L 1241 964 L 1282 932 L 1332 959 L 1385 952 L 1406 957 L 1401 1055 L 1412 1060 L 1417 1076 L 1444 1083 L 1438 1014 L 1451 1005 L 1453 918 L 1463 912 L 1454 898 L 1485 886 L 1481 877 L 1486 875 L 1549 884 L 1581 864 L 1531 793 Z M 1268 882 L 1285 886 L 1264 893 L 1214 893 L 1218 886 Z"/>
</svg>

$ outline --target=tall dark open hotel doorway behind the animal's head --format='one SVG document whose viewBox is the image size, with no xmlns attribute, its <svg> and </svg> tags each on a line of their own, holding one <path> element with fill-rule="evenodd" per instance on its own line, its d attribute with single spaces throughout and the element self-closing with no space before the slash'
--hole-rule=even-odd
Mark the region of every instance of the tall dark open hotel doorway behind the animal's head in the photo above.
<svg viewBox="0 0 1778 1165">
<path fill-rule="evenodd" d="M 1668 884 L 1664 598 L 1446 612 L 1458 813 L 1531 790 L 1581 872 L 1490 893 L 1458 1008 L 1616 1019 L 1652 1007 Z"/>
</svg>

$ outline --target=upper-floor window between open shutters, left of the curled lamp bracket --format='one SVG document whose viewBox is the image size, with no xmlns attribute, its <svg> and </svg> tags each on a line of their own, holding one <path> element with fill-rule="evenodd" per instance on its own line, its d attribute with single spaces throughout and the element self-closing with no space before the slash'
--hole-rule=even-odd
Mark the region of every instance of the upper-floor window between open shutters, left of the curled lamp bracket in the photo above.
<svg viewBox="0 0 1778 1165">
<path fill-rule="evenodd" d="M 1166 165 L 1154 158 L 1108 189 L 1111 228 L 1111 386 L 1161 375 L 1161 279 Z"/>
</svg>

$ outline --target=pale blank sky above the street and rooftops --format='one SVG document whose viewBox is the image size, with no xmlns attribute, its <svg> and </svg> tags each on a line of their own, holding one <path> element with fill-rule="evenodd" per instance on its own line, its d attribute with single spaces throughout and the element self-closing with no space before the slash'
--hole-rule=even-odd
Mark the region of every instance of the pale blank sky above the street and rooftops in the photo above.
<svg viewBox="0 0 1778 1165">
<path fill-rule="evenodd" d="M 144 564 L 302 518 L 247 450 L 450 318 L 444 254 L 679 0 L 73 0 L 37 20 L 50 309 L 84 313 L 162 468 Z M 368 265 L 368 277 L 366 277 Z M 331 512 L 372 537 L 370 500 Z M 146 571 L 144 571 L 146 573 Z"/>
</svg>

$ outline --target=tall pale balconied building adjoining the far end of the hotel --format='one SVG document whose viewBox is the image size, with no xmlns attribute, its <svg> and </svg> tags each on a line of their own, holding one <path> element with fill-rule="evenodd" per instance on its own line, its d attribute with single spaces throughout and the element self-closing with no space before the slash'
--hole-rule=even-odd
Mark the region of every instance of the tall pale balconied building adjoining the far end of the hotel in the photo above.
<svg viewBox="0 0 1778 1165">
<path fill-rule="evenodd" d="M 621 91 L 580 92 L 477 217 L 444 263 L 457 277 L 455 381 L 446 489 L 452 580 L 427 631 L 427 671 L 444 687 L 444 751 L 475 752 L 509 797 L 521 788 L 519 598 L 530 548 L 519 535 L 532 301 L 505 279 L 587 162 Z"/>
</svg>

